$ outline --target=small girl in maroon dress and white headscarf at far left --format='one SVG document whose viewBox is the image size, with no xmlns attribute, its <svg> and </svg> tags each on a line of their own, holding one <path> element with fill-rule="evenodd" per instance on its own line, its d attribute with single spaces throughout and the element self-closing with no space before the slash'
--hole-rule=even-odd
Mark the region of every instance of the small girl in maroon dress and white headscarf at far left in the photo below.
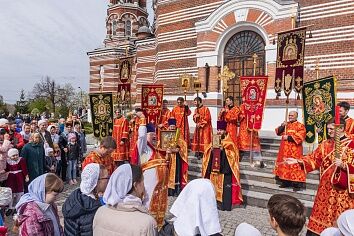
<svg viewBox="0 0 354 236">
<path fill-rule="evenodd" d="M 8 173 L 6 186 L 12 190 L 12 203 L 6 215 L 11 215 L 15 211 L 15 206 L 24 193 L 24 181 L 28 182 L 28 171 L 26 160 L 19 156 L 16 148 L 11 148 L 8 152 L 8 159 L 5 171 Z"/>
</svg>

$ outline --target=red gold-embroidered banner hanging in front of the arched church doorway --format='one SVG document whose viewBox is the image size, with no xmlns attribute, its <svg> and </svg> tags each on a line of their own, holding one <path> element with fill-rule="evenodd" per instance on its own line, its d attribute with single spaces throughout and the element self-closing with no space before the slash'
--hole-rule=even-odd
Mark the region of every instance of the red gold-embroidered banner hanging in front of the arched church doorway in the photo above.
<svg viewBox="0 0 354 236">
<path fill-rule="evenodd" d="M 268 76 L 241 76 L 242 103 L 245 107 L 247 128 L 260 130 L 267 94 Z"/>
</svg>

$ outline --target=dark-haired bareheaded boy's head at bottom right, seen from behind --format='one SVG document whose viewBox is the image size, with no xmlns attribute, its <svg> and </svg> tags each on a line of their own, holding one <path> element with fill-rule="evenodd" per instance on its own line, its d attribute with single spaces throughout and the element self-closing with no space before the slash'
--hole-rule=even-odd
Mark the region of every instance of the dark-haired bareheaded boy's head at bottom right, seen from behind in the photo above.
<svg viewBox="0 0 354 236">
<path fill-rule="evenodd" d="M 275 194 L 268 201 L 270 225 L 277 235 L 299 235 L 306 222 L 306 208 L 296 198 Z"/>
</svg>

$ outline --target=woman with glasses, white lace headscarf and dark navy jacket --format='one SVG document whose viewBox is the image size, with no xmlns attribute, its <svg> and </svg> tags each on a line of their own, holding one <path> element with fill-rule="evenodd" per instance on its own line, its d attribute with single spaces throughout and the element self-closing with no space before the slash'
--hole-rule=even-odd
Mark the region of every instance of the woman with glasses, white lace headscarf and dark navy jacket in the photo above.
<svg viewBox="0 0 354 236">
<path fill-rule="evenodd" d="M 92 222 L 102 203 L 109 175 L 108 170 L 96 163 L 91 163 L 81 173 L 80 188 L 73 191 L 63 205 L 64 234 L 92 235 Z"/>
</svg>

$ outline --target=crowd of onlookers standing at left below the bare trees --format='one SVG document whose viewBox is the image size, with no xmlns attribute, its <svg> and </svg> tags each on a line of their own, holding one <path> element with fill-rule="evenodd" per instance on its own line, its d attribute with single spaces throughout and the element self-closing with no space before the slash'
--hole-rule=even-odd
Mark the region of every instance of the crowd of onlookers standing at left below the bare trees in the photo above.
<svg viewBox="0 0 354 236">
<path fill-rule="evenodd" d="M 57 121 L 37 118 L 18 113 L 0 119 L 0 182 L 12 190 L 7 216 L 16 212 L 29 184 L 44 173 L 77 183 L 76 167 L 86 152 L 80 120 L 75 115 Z"/>
</svg>

